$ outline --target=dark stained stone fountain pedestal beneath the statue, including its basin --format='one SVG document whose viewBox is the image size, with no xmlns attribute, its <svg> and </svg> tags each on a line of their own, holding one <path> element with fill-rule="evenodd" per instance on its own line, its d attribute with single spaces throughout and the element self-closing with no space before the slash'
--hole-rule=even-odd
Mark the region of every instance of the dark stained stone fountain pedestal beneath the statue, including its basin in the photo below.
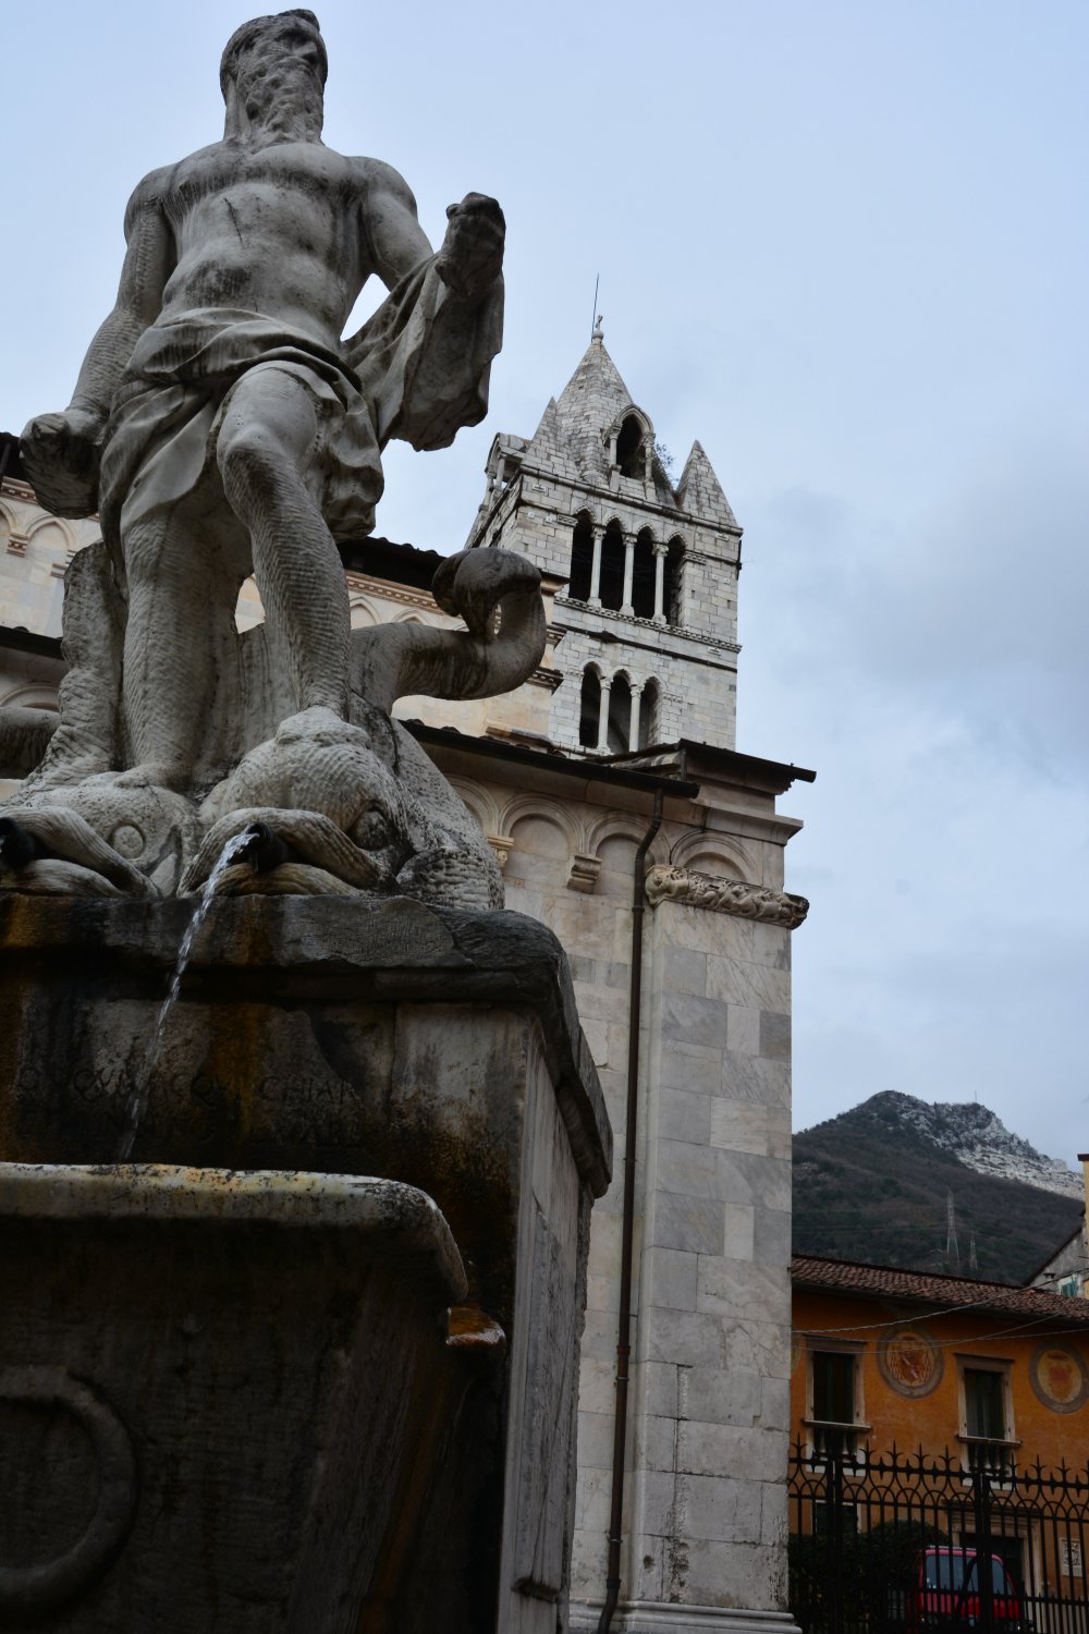
<svg viewBox="0 0 1089 1634">
<path fill-rule="evenodd" d="M 41 1567 L 65 1634 L 553 1634 L 609 1172 L 558 944 L 403 899 L 217 902 L 113 1165 L 186 913 L 0 900 L 0 1507 L 38 1471 L 49 1521 L 0 1528 L 0 1621 L 41 1618 Z M 98 1410 L 131 1513 L 77 1582 Z"/>
</svg>

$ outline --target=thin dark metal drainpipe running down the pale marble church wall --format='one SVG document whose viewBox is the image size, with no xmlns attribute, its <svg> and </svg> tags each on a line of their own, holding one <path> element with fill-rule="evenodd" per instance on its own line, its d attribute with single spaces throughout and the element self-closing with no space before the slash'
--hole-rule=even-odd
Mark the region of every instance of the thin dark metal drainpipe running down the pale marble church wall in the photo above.
<svg viewBox="0 0 1089 1634">
<path fill-rule="evenodd" d="M 638 1034 L 643 1007 L 643 912 L 647 907 L 647 853 L 661 828 L 661 789 L 655 789 L 655 814 L 635 853 L 632 877 L 632 997 L 627 1044 L 627 1124 L 624 1131 L 624 1230 L 620 1237 L 620 1314 L 617 1317 L 617 1394 L 612 1426 L 612 1503 L 609 1511 L 609 1565 L 606 1603 L 598 1634 L 609 1634 L 620 1598 L 620 1542 L 624 1534 L 624 1444 L 627 1441 L 627 1386 L 632 1356 L 632 1239 L 635 1235 L 635 1118 L 638 1113 Z"/>
</svg>

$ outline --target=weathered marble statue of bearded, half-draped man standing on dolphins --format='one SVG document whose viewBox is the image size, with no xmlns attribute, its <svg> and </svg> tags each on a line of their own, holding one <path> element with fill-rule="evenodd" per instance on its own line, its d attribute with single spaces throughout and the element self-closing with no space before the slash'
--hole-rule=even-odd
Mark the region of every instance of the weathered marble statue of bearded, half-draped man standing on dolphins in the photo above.
<svg viewBox="0 0 1089 1634">
<path fill-rule="evenodd" d="M 237 29 L 222 141 L 140 181 L 118 301 L 72 404 L 23 436 L 41 502 L 98 511 L 104 544 L 69 585 L 72 673 L 20 804 L 67 806 L 109 843 L 121 825 L 131 850 L 134 828 L 152 845 L 144 830 L 165 827 L 165 889 L 217 819 L 256 807 L 317 810 L 364 848 L 377 809 L 395 871 L 397 856 L 442 850 L 441 835 L 408 835 L 410 752 L 376 706 L 389 714 L 410 690 L 487 696 L 518 685 L 544 645 L 536 574 L 506 552 L 465 552 L 436 578 L 439 605 L 469 624 L 460 647 L 451 631 L 392 626 L 354 642 L 338 542 L 372 529 L 390 438 L 442 448 L 483 417 L 504 222 L 470 193 L 433 253 L 402 176 L 322 142 L 325 77 L 310 11 Z M 390 294 L 344 340 L 372 275 Z M 485 556 L 496 560 L 469 560 Z M 235 624 L 250 574 L 264 606 L 253 639 Z M 500 623 L 504 659 L 491 662 Z M 139 799 L 121 824 L 124 791 Z"/>
</svg>

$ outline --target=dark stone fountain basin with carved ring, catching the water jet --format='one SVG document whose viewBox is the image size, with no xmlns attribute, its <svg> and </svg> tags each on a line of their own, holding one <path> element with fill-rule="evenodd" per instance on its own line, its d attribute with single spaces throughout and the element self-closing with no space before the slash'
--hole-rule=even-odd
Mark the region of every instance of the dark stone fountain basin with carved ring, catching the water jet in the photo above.
<svg viewBox="0 0 1089 1634">
<path fill-rule="evenodd" d="M 464 1291 L 397 1181 L 0 1163 L 0 1626 L 356 1631 Z"/>
</svg>

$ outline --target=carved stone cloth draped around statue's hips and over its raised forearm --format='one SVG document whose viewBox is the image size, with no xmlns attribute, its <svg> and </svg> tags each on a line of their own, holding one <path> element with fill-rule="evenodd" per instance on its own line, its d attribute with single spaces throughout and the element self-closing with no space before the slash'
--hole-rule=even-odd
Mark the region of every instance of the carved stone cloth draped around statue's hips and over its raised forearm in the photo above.
<svg viewBox="0 0 1089 1634">
<path fill-rule="evenodd" d="M 336 351 L 242 309 L 153 324 L 126 366 L 103 441 L 98 498 L 111 554 L 121 565 L 122 510 L 131 526 L 217 480 L 230 391 L 269 366 L 297 376 L 313 397 L 318 446 L 309 480 L 333 536 L 366 538 L 382 495 L 382 448 L 392 438 L 447 448 L 460 426 L 483 420 L 501 342 L 501 278 L 480 299 L 459 299 L 436 257 L 402 278 Z"/>
</svg>

